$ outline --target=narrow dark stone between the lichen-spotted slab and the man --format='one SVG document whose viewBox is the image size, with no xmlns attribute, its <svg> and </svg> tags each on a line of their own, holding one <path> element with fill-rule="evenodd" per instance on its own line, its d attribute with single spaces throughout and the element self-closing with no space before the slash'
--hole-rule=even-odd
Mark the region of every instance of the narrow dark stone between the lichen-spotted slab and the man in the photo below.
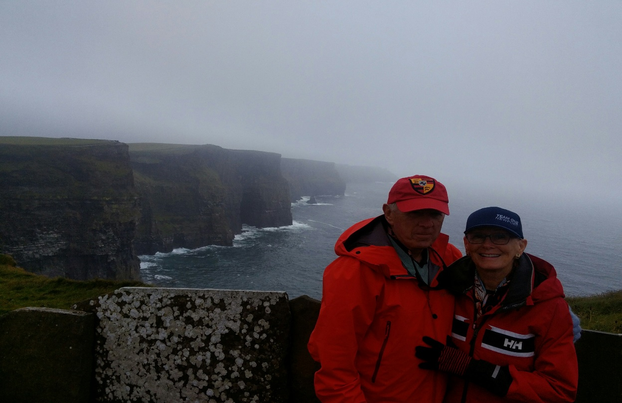
<svg viewBox="0 0 622 403">
<path fill-rule="evenodd" d="M 320 301 L 302 295 L 289 302 L 292 312 L 292 344 L 289 355 L 290 402 L 319 403 L 313 388 L 313 376 L 320 369 L 320 363 L 313 361 L 307 343 L 317 317 L 320 315 Z"/>
</svg>

